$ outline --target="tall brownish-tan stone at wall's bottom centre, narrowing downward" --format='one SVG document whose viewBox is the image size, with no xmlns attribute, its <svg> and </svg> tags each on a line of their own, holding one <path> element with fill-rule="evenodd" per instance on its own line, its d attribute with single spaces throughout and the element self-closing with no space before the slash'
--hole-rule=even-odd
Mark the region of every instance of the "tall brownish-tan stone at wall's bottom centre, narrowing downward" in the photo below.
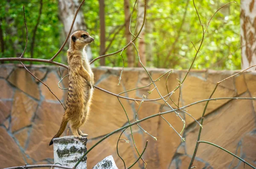
<svg viewBox="0 0 256 169">
<path fill-rule="evenodd" d="M 160 104 L 143 102 L 138 113 L 139 119 L 156 114 L 159 109 Z M 166 110 L 163 109 L 163 111 Z M 175 130 L 178 132 L 182 130 L 183 123 L 175 113 L 168 113 L 163 115 L 163 117 L 169 121 Z M 168 168 L 172 161 L 172 157 L 180 144 L 180 137 L 169 126 L 169 124 L 166 123 L 166 121 L 160 118 L 160 116 L 142 121 L 140 126 L 149 134 L 157 138 L 157 141 L 155 141 L 150 135 L 143 133 L 145 138 L 144 141 L 148 140 L 148 149 L 145 152 L 145 159 L 147 159 L 146 162 L 148 163 L 148 166 L 150 166 L 150 168 Z M 172 136 L 170 137 L 170 135 Z"/>
</svg>

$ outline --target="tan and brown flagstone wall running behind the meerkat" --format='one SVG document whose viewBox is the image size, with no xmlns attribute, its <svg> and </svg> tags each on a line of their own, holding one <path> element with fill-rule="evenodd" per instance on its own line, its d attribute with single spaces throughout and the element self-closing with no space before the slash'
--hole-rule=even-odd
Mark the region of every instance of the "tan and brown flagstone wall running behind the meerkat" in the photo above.
<svg viewBox="0 0 256 169">
<path fill-rule="evenodd" d="M 67 90 L 58 88 L 60 75 L 58 67 L 34 66 L 30 68 L 39 79 L 45 82 L 52 91 L 65 102 Z M 120 93 L 134 87 L 148 85 L 150 79 L 143 69 L 126 68 L 122 74 L 121 85 L 118 84 L 120 68 L 94 69 L 96 85 L 113 93 Z M 157 79 L 167 70 L 149 69 L 153 79 Z M 61 68 L 62 76 L 67 70 Z M 177 79 L 183 79 L 186 71 L 174 71 L 167 83 L 169 91 L 178 84 Z M 215 87 L 216 82 L 234 74 L 233 71 L 192 71 L 183 83 L 180 90 L 180 105 L 186 105 L 202 99 L 207 99 Z M 162 95 L 166 95 L 166 76 L 156 82 Z M 68 79 L 60 83 L 61 87 L 68 86 Z M 148 95 L 146 87 L 137 91 L 125 93 L 122 96 L 147 99 L 159 98 L 156 90 Z M 178 102 L 177 90 L 172 99 Z M 256 72 L 247 72 L 235 76 L 221 83 L 213 98 L 218 97 L 254 97 L 256 96 Z M 134 121 L 138 104 L 135 101 L 121 99 L 128 117 Z M 175 107 L 175 105 L 169 101 Z M 159 113 L 163 101 L 144 101 L 138 111 L 138 118 Z M 200 119 L 205 102 L 188 107 L 189 113 Z M 128 124 L 125 112 L 115 96 L 95 89 L 91 107 L 90 120 L 84 125 L 82 131 L 89 135 L 87 148 L 99 141 L 109 132 Z M 244 158 L 256 166 L 256 102 L 253 100 L 216 100 L 209 103 L 204 120 L 201 140 L 210 141 L 228 149 L 230 152 Z M 170 110 L 164 106 L 161 112 Z M 28 164 L 53 163 L 53 147 L 49 146 L 52 136 L 58 131 L 64 109 L 57 99 L 49 92 L 47 87 L 35 80 L 25 69 L 13 65 L 0 65 L 0 168 Z M 183 132 L 185 142 L 159 116 L 140 123 L 151 136 L 133 126 L 133 135 L 142 152 L 145 141 L 148 147 L 143 155 L 148 169 L 176 169 L 187 168 L 189 165 L 197 135 L 198 125 L 188 115 L 180 113 L 186 120 Z M 170 124 L 180 132 L 183 123 L 175 115 L 163 115 Z M 63 135 L 66 135 L 67 130 Z M 69 133 L 72 135 L 72 133 Z M 88 169 L 108 155 L 113 155 L 119 168 L 123 163 L 116 153 L 116 142 L 120 132 L 112 135 L 96 146 L 88 154 Z M 119 154 L 131 165 L 138 155 L 131 140 L 131 131 L 127 129 L 121 138 L 128 140 L 119 142 Z M 236 168 L 242 169 L 244 163 L 233 158 L 220 149 L 200 144 L 194 166 L 201 168 Z M 134 168 L 143 168 L 140 160 Z M 245 168 L 249 168 L 245 165 Z"/>
</svg>

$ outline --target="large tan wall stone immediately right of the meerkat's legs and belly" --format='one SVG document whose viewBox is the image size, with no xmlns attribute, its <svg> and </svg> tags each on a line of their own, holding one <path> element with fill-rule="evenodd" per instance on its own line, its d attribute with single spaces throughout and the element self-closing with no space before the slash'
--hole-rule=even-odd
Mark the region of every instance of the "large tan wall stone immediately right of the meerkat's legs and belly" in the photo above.
<svg viewBox="0 0 256 169">
<path fill-rule="evenodd" d="M 120 93 L 123 89 L 121 86 L 116 85 L 116 79 L 118 79 L 118 77 L 109 76 L 98 86 L 113 93 Z M 131 106 L 127 100 L 120 100 L 128 113 L 128 117 L 132 120 L 134 112 L 131 109 Z M 117 98 L 100 90 L 94 90 L 90 112 L 88 122 L 81 128 L 81 130 L 84 133 L 87 133 L 90 138 L 106 135 L 109 132 L 122 127 L 128 121 Z"/>
</svg>

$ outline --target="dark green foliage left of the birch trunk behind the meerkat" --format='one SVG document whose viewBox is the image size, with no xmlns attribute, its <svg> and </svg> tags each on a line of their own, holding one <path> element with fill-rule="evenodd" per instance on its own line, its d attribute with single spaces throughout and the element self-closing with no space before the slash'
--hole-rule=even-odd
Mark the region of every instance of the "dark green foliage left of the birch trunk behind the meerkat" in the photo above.
<svg viewBox="0 0 256 169">
<path fill-rule="evenodd" d="M 5 41 L 2 57 L 18 57 L 24 50 L 26 28 L 23 19 L 23 5 L 28 27 L 28 45 L 24 57 L 31 57 L 32 36 L 37 24 L 40 0 L 0 2 L 0 24 Z M 58 19 L 58 1 L 43 0 L 41 19 L 35 36 L 34 58 L 50 59 L 58 51 L 61 30 L 62 26 Z M 61 62 L 61 58 L 56 58 L 56 61 Z"/>
</svg>

